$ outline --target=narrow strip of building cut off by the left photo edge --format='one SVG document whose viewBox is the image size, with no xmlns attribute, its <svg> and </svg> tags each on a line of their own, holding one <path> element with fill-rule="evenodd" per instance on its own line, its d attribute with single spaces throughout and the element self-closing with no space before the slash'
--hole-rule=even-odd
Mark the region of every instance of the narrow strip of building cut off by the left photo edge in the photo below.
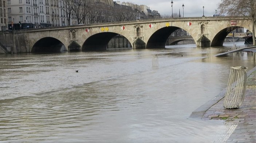
<svg viewBox="0 0 256 143">
<path fill-rule="evenodd" d="M 9 3 L 10 0 L 8 0 Z M 6 0 L 0 0 L 0 31 L 7 28 L 7 4 Z"/>
</svg>

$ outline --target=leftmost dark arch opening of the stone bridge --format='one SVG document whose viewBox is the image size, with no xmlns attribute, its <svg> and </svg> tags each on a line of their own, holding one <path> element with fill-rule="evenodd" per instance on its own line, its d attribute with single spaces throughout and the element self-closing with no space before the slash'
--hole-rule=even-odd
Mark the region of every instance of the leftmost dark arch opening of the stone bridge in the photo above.
<svg viewBox="0 0 256 143">
<path fill-rule="evenodd" d="M 62 52 L 67 51 L 66 46 L 60 40 L 53 37 L 44 37 L 36 41 L 32 46 L 31 53 Z"/>
</svg>

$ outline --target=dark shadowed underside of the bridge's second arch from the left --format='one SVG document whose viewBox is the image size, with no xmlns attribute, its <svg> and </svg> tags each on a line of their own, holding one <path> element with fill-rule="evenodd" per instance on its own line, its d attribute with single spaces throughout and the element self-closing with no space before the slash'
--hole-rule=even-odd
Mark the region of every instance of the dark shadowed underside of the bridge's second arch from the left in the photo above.
<svg viewBox="0 0 256 143">
<path fill-rule="evenodd" d="M 82 51 L 106 50 L 109 41 L 117 35 L 118 33 L 114 32 L 102 32 L 93 34 L 84 41 L 82 45 Z M 128 40 L 128 38 L 126 39 Z M 130 40 L 128 41 L 130 42 Z"/>
</svg>

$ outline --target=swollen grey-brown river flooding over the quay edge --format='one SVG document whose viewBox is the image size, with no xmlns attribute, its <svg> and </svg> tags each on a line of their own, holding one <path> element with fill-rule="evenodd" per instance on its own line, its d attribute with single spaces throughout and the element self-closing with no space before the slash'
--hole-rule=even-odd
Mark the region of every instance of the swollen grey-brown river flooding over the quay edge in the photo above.
<svg viewBox="0 0 256 143">
<path fill-rule="evenodd" d="M 230 66 L 255 67 L 253 53 L 214 57 L 230 49 L 0 55 L 0 142 L 222 142 L 232 125 L 189 115 L 227 86 Z"/>
</svg>

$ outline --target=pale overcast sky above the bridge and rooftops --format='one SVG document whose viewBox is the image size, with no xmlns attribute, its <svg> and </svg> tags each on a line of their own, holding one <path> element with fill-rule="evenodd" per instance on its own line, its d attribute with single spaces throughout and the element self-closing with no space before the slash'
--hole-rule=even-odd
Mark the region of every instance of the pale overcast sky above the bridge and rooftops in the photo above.
<svg viewBox="0 0 256 143">
<path fill-rule="evenodd" d="M 158 11 L 160 15 L 172 15 L 171 0 L 119 0 L 121 2 L 131 2 L 138 5 L 147 5 L 151 10 Z M 182 16 L 182 4 L 184 4 L 184 17 L 200 17 L 203 15 L 213 16 L 221 0 L 173 0 L 173 13 Z M 218 14 L 218 9 L 217 9 Z"/>
</svg>

